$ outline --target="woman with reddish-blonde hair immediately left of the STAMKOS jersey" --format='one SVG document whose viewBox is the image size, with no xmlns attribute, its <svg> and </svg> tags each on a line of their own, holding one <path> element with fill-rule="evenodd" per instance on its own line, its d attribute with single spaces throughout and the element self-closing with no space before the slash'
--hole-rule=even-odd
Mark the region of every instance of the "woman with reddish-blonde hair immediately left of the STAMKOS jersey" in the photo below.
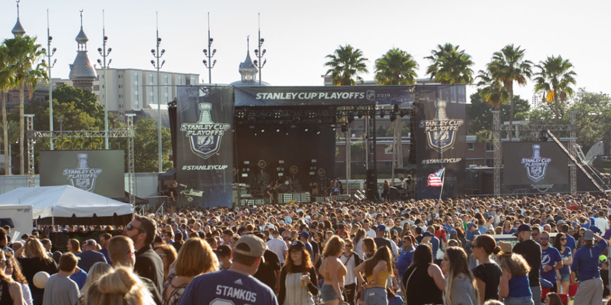
<svg viewBox="0 0 611 305">
<path fill-rule="evenodd" d="M 178 304 L 193 278 L 218 270 L 218 260 L 210 245 L 203 239 L 188 239 L 178 251 L 174 270 L 170 270 L 163 283 L 163 305 Z"/>
</svg>

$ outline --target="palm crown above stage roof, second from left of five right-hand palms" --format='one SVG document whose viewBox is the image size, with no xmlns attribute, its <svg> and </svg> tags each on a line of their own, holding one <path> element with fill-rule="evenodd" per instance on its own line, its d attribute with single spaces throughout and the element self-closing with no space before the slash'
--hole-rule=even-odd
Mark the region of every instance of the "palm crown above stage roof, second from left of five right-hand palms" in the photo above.
<svg viewBox="0 0 611 305">
<path fill-rule="evenodd" d="M 416 82 L 418 63 L 408 52 L 390 49 L 376 59 L 375 79 L 378 85 L 411 85 Z"/>
</svg>

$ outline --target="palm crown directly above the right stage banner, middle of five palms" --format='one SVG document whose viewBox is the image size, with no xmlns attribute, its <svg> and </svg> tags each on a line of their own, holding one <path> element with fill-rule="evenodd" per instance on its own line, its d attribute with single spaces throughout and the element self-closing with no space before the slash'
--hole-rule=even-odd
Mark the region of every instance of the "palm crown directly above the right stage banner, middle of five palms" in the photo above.
<svg viewBox="0 0 611 305">
<path fill-rule="evenodd" d="M 443 46 L 437 45 L 437 50 L 431 50 L 431 56 L 425 59 L 430 59 L 433 63 L 426 68 L 426 74 L 430 74 L 431 79 L 434 78 L 441 84 L 472 83 L 471 56 L 464 50 L 458 51 L 458 47 L 453 46 L 452 43 L 446 43 Z"/>
</svg>

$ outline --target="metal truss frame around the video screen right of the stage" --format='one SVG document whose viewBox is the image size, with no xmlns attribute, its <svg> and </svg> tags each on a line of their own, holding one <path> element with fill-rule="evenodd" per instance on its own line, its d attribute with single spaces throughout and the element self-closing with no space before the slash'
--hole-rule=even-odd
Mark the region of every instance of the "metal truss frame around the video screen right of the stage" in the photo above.
<svg viewBox="0 0 611 305">
<path fill-rule="evenodd" d="M 501 152 L 500 139 L 501 132 L 569 132 L 569 152 L 572 156 L 577 156 L 577 120 L 575 111 L 569 112 L 569 120 L 571 124 L 500 124 L 500 111 L 492 111 L 492 129 L 494 145 L 494 196 L 500 196 L 500 167 L 501 167 Z M 571 195 L 577 194 L 577 168 L 574 162 L 569 165 L 571 169 Z"/>
</svg>

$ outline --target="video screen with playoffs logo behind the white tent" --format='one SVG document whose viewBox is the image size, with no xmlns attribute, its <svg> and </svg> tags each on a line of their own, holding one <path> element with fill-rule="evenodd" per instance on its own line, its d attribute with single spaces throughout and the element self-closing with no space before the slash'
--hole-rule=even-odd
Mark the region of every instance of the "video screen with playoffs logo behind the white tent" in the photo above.
<svg viewBox="0 0 611 305">
<path fill-rule="evenodd" d="M 125 152 L 112 150 L 40 151 L 40 186 L 72 185 L 108 198 L 125 196 Z"/>
</svg>

